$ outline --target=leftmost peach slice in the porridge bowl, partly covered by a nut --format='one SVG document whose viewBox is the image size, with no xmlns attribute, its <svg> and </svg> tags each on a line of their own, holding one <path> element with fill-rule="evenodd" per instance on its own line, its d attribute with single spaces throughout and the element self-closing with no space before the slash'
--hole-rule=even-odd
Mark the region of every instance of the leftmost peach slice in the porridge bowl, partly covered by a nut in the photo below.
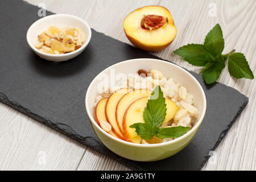
<svg viewBox="0 0 256 182">
<path fill-rule="evenodd" d="M 94 117 L 96 122 L 98 123 L 98 125 L 101 127 L 100 122 L 101 121 L 106 121 L 106 117 L 105 117 L 105 106 L 106 106 L 106 102 L 108 101 L 108 98 L 102 98 L 102 100 L 98 101 L 97 105 L 95 106 L 94 109 Z M 113 133 L 113 131 L 109 131 L 109 134 L 112 135 L 113 137 L 117 137 L 117 135 L 115 135 Z"/>
</svg>

